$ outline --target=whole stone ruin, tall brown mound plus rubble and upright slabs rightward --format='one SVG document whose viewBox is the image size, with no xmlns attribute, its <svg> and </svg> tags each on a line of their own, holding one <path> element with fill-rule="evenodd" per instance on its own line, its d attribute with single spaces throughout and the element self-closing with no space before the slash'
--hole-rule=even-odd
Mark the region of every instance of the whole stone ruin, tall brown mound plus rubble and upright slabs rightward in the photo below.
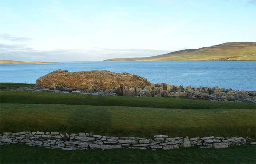
<svg viewBox="0 0 256 164">
<path fill-rule="evenodd" d="M 144 77 L 129 73 L 110 71 L 68 72 L 61 69 L 48 73 L 37 79 L 37 91 L 83 93 L 93 95 L 139 96 L 139 97 L 185 97 L 202 98 L 212 101 L 251 102 L 256 103 L 255 91 L 233 91 L 211 87 L 183 87 L 165 83 L 152 84 Z"/>
</svg>

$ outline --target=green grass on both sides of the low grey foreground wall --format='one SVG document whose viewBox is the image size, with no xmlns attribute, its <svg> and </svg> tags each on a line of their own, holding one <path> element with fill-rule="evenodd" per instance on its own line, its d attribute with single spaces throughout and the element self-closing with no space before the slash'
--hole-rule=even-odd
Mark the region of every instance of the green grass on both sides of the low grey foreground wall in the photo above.
<svg viewBox="0 0 256 164">
<path fill-rule="evenodd" d="M 255 103 L 184 98 L 0 91 L 0 132 L 256 138 Z M 254 146 L 63 151 L 7 145 L 0 148 L 0 163 L 256 163 L 255 154 Z"/>
</svg>

